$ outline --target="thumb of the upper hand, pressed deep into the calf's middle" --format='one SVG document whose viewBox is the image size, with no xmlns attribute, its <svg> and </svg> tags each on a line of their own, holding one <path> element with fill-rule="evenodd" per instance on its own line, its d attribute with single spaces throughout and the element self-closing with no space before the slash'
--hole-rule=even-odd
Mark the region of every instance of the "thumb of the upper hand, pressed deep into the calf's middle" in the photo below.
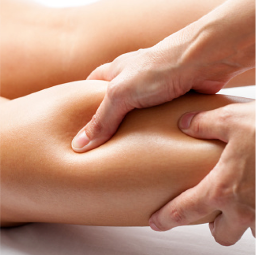
<svg viewBox="0 0 256 255">
<path fill-rule="evenodd" d="M 84 153 L 108 141 L 130 110 L 121 100 L 111 100 L 107 93 L 91 121 L 73 139 L 72 149 Z"/>
</svg>

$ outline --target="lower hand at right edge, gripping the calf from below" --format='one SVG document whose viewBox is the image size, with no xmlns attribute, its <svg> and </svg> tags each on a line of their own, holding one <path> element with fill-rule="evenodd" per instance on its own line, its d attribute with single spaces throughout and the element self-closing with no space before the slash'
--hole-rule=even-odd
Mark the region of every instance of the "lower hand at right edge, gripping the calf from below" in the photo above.
<svg viewBox="0 0 256 255">
<path fill-rule="evenodd" d="M 228 144 L 217 165 L 197 186 L 151 216 L 151 228 L 188 225 L 220 210 L 209 225 L 218 243 L 233 245 L 248 228 L 256 238 L 256 102 L 187 113 L 179 127 L 190 136 Z"/>
</svg>

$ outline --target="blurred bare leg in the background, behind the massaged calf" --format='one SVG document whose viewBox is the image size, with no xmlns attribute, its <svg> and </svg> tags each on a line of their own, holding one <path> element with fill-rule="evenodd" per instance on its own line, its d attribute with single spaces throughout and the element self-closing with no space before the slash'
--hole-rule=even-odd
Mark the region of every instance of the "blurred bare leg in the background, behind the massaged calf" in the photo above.
<svg viewBox="0 0 256 255">
<path fill-rule="evenodd" d="M 97 66 L 153 46 L 222 2 L 102 0 L 51 9 L 32 1 L 0 0 L 0 95 L 13 99 L 85 79 Z M 255 83 L 254 74 L 243 80 Z"/>
</svg>

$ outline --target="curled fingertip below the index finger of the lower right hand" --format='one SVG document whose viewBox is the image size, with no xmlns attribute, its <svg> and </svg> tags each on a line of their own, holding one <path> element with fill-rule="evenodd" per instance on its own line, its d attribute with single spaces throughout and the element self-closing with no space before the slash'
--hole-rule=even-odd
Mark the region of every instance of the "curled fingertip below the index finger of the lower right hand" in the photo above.
<svg viewBox="0 0 256 255">
<path fill-rule="evenodd" d="M 248 229 L 248 227 L 238 224 L 235 218 L 224 213 L 216 217 L 209 227 L 215 241 L 223 246 L 234 245 Z"/>
</svg>

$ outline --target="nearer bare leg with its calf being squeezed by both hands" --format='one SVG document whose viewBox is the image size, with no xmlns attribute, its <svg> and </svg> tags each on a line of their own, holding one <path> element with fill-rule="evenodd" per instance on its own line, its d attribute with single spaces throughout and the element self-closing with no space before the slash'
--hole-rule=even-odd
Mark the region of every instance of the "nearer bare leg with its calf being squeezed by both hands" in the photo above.
<svg viewBox="0 0 256 255">
<path fill-rule="evenodd" d="M 209 173 L 225 146 L 186 136 L 177 127 L 180 116 L 250 101 L 190 93 L 133 110 L 106 144 L 74 153 L 71 140 L 95 113 L 107 85 L 79 81 L 2 101 L 1 226 L 148 226 L 153 212 Z"/>
</svg>

